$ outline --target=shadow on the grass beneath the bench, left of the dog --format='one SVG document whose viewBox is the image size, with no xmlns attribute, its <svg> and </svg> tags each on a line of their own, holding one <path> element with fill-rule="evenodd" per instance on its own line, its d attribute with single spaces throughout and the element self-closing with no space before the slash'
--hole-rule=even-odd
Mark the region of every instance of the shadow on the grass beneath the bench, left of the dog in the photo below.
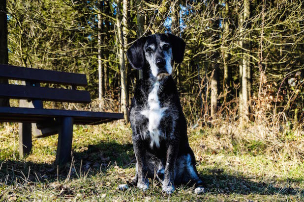
<svg viewBox="0 0 304 202">
<path fill-rule="evenodd" d="M 1 151 L 0 151 L 1 152 Z M 112 165 L 121 168 L 134 166 L 135 157 L 132 144 L 99 142 L 85 148 L 74 148 L 73 163 L 57 166 L 54 163 L 36 163 L 22 160 L 0 159 L 0 185 L 17 181 L 53 182 L 64 180 L 68 176 L 96 175 L 106 173 Z M 38 180 L 39 178 L 39 180 Z"/>
</svg>

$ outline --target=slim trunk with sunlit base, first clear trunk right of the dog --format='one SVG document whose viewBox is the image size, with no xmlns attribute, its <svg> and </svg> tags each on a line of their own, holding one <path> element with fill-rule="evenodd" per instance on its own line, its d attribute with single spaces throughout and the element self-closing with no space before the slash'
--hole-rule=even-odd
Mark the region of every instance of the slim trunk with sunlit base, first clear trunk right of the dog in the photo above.
<svg viewBox="0 0 304 202">
<path fill-rule="evenodd" d="M 216 7 L 218 6 L 218 0 L 214 0 L 212 3 L 213 6 L 213 18 L 217 18 L 216 16 Z M 217 30 L 219 28 L 219 20 L 216 19 L 213 21 L 213 29 Z M 213 33 L 213 42 L 218 43 L 219 39 L 219 34 L 218 33 Z M 216 116 L 216 111 L 217 111 L 217 95 L 218 95 L 218 79 L 219 79 L 219 64 L 216 62 L 219 56 L 218 50 L 218 45 L 214 47 L 216 51 L 213 52 L 212 55 L 212 71 L 213 71 L 213 76 L 211 79 L 211 116 L 213 119 Z"/>
</svg>

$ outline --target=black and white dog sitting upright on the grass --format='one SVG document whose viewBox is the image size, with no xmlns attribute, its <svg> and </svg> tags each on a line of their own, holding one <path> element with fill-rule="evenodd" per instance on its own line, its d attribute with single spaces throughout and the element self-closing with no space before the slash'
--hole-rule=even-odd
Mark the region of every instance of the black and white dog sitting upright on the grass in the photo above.
<svg viewBox="0 0 304 202">
<path fill-rule="evenodd" d="M 130 108 L 136 156 L 136 175 L 131 184 L 143 191 L 149 188 L 148 178 L 156 177 L 167 194 L 173 193 L 175 184 L 195 185 L 195 193 L 204 192 L 171 76 L 171 63 L 181 63 L 184 50 L 181 38 L 154 34 L 138 39 L 126 52 L 131 66 L 143 72 Z"/>
</svg>

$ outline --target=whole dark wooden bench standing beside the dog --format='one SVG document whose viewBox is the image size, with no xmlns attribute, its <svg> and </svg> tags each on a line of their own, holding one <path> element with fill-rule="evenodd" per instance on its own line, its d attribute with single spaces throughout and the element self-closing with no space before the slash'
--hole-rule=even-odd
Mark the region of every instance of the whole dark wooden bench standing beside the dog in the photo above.
<svg viewBox="0 0 304 202">
<path fill-rule="evenodd" d="M 21 158 L 31 151 L 32 129 L 36 137 L 59 134 L 55 163 L 65 164 L 71 157 L 74 124 L 97 125 L 123 118 L 121 113 L 43 108 L 42 101 L 90 103 L 88 91 L 76 90 L 77 86 L 88 85 L 82 74 L 0 65 L 0 78 L 21 80 L 25 84 L 0 84 L 0 98 L 20 99 L 19 107 L 0 106 L 0 122 L 20 123 Z M 71 89 L 40 87 L 40 83 L 63 84 Z"/>
</svg>

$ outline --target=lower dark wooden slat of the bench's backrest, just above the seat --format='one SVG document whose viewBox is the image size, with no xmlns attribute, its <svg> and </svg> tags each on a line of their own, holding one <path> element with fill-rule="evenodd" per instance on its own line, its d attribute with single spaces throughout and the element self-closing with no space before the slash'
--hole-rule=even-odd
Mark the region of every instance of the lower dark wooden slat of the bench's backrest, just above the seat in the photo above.
<svg viewBox="0 0 304 202">
<path fill-rule="evenodd" d="M 0 84 L 0 97 L 42 101 L 91 102 L 88 91 Z"/>
</svg>

